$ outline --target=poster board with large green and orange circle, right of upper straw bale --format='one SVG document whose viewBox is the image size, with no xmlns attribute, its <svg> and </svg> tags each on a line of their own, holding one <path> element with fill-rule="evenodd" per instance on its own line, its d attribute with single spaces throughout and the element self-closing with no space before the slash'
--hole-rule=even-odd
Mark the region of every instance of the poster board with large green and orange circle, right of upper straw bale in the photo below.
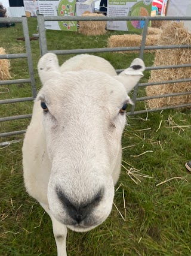
<svg viewBox="0 0 191 256">
<path fill-rule="evenodd" d="M 152 0 L 107 0 L 107 16 L 150 16 Z M 141 32 L 144 20 L 109 21 L 108 30 Z"/>
</svg>

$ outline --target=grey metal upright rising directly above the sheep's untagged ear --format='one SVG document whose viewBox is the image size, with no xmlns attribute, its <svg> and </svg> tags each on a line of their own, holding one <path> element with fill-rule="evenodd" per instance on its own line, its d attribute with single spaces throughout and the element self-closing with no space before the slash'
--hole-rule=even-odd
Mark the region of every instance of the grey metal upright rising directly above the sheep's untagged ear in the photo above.
<svg viewBox="0 0 191 256">
<path fill-rule="evenodd" d="M 38 14 L 37 21 L 38 21 L 39 46 L 40 46 L 41 56 L 43 56 L 45 55 L 45 53 L 48 52 L 44 16 L 42 14 Z"/>
</svg>

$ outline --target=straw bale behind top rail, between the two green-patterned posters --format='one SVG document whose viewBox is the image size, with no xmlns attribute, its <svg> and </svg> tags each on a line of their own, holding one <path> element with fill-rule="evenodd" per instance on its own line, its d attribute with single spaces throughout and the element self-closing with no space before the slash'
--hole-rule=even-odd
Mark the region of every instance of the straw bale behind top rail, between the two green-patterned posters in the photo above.
<svg viewBox="0 0 191 256">
<path fill-rule="evenodd" d="M 104 17 L 98 13 L 84 13 L 84 17 Z M 79 32 L 84 35 L 104 35 L 106 34 L 106 22 L 79 22 Z"/>
</svg>

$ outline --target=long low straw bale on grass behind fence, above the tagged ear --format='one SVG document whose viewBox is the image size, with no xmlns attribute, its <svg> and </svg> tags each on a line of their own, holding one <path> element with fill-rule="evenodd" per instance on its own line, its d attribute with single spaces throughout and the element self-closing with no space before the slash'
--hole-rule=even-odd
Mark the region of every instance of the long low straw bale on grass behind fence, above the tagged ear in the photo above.
<svg viewBox="0 0 191 256">
<path fill-rule="evenodd" d="M 147 35 L 146 46 L 155 46 L 158 44 L 159 35 Z M 140 47 L 142 41 L 141 35 L 111 35 L 107 39 L 107 47 Z M 138 50 L 131 51 L 131 53 L 138 53 Z M 153 50 L 147 50 L 153 52 Z M 116 53 L 130 53 L 130 51 L 116 52 Z"/>
</svg>

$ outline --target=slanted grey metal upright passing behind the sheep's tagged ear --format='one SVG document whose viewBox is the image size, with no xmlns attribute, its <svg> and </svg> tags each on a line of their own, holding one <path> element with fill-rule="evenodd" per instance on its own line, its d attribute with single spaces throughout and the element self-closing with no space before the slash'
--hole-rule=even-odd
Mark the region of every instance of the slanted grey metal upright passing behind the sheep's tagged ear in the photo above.
<svg viewBox="0 0 191 256">
<path fill-rule="evenodd" d="M 140 59 L 143 59 L 143 53 L 144 53 L 144 47 L 145 47 L 145 43 L 146 43 L 148 25 L 149 25 L 149 18 L 146 18 L 145 22 L 144 22 L 143 36 L 142 36 L 142 41 L 141 41 L 141 49 L 140 49 L 140 54 L 139 54 Z M 136 104 L 136 99 L 137 99 L 137 92 L 138 92 L 138 83 L 134 88 L 134 94 L 133 94 L 133 103 L 134 103 L 134 105 L 131 107 L 131 115 L 134 114 L 135 104 Z"/>
</svg>

